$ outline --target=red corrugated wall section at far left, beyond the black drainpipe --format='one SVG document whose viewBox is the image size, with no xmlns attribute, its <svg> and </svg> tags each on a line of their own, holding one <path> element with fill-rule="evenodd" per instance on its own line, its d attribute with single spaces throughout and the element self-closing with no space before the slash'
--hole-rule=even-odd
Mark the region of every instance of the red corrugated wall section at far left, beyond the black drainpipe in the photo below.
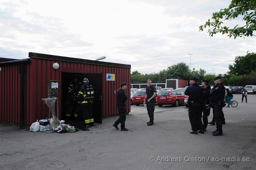
<svg viewBox="0 0 256 170">
<path fill-rule="evenodd" d="M 0 121 L 20 123 L 20 64 L 1 67 Z"/>
</svg>

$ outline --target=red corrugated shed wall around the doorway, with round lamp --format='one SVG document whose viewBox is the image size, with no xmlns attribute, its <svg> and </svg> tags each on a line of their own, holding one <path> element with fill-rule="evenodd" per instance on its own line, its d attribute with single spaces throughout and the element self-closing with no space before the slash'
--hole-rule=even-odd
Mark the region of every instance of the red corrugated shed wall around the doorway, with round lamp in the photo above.
<svg viewBox="0 0 256 170">
<path fill-rule="evenodd" d="M 46 104 L 41 100 L 47 98 L 47 81 L 58 80 L 59 84 L 59 112 L 61 119 L 61 72 L 74 72 L 74 73 L 102 73 L 102 111 L 103 116 L 118 114 L 116 108 L 116 94 L 115 90 L 119 89 L 121 82 L 127 82 L 129 87 L 131 82 L 131 69 L 114 67 L 114 66 L 101 66 L 84 63 L 66 62 L 45 60 L 40 58 L 30 58 L 31 63 L 28 64 L 27 81 L 26 81 L 26 106 L 25 106 L 25 120 L 24 124 L 31 125 L 36 119 L 42 119 L 49 114 L 49 109 Z M 57 62 L 60 67 L 55 70 L 52 64 Z M 116 75 L 115 81 L 106 81 L 106 73 Z M 127 91 L 127 112 L 130 112 L 130 89 Z M 63 101 L 65 102 L 65 101 Z M 57 112 L 57 110 L 56 110 Z"/>
</svg>

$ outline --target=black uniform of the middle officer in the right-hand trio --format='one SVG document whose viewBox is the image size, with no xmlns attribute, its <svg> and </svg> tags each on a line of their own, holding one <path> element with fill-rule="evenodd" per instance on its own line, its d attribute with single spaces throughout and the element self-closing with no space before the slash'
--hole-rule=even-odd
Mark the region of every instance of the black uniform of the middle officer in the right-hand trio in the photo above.
<svg viewBox="0 0 256 170">
<path fill-rule="evenodd" d="M 203 88 L 203 95 L 202 95 L 202 112 L 203 112 L 203 127 L 204 131 L 206 131 L 208 125 L 208 116 L 210 115 L 210 109 L 207 110 L 206 108 L 210 106 L 210 89 L 206 87 Z"/>
</svg>

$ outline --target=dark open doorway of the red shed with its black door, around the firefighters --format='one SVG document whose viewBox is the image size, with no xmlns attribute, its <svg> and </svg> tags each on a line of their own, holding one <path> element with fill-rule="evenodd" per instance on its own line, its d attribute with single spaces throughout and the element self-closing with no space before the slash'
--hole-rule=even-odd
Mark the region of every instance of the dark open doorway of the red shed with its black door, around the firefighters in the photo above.
<svg viewBox="0 0 256 170">
<path fill-rule="evenodd" d="M 95 94 L 94 103 L 92 105 L 92 114 L 95 123 L 102 123 L 102 73 L 61 73 L 61 116 L 66 117 L 67 111 L 67 99 L 68 99 L 68 86 L 77 78 L 78 82 L 82 82 L 83 78 L 86 77 L 89 80 L 89 84 L 92 85 Z M 82 119 L 83 115 L 80 112 Z"/>
</svg>

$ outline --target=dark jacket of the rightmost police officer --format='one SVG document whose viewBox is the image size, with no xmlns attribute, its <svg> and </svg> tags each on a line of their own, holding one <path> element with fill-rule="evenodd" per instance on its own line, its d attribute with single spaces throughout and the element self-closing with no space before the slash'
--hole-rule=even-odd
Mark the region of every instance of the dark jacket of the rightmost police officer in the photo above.
<svg viewBox="0 0 256 170">
<path fill-rule="evenodd" d="M 226 91 L 226 89 L 225 89 L 223 83 L 213 86 L 213 88 L 210 91 L 211 101 L 212 102 L 216 102 L 216 101 L 223 102 L 223 100 L 225 98 L 225 94 L 226 94 L 225 91 Z"/>
</svg>

